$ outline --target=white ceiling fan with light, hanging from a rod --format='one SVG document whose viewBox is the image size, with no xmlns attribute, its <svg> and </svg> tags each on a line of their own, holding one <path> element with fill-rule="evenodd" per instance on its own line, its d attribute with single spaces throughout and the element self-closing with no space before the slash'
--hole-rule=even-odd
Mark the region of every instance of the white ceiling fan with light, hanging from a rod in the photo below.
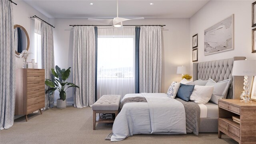
<svg viewBox="0 0 256 144">
<path fill-rule="evenodd" d="M 120 18 L 118 17 L 118 0 L 116 1 L 117 3 L 117 16 L 114 19 L 98 19 L 98 18 L 88 18 L 88 20 L 93 21 L 93 22 L 100 22 L 103 24 L 109 24 L 114 27 L 121 27 L 123 26 L 122 22 L 126 20 L 139 20 L 139 19 L 144 19 L 143 17 L 140 18 Z"/>
</svg>

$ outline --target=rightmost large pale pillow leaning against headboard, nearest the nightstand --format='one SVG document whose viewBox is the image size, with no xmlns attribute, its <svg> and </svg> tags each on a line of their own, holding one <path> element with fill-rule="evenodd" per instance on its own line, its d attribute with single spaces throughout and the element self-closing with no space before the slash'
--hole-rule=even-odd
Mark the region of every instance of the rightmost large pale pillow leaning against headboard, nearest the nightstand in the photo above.
<svg viewBox="0 0 256 144">
<path fill-rule="evenodd" d="M 214 86 L 210 101 L 214 102 L 215 104 L 218 104 L 218 99 L 220 99 L 221 97 L 227 98 L 230 82 L 231 79 L 227 79 L 216 83 L 214 80 L 209 78 L 209 81 L 206 83 L 206 86 Z"/>
</svg>

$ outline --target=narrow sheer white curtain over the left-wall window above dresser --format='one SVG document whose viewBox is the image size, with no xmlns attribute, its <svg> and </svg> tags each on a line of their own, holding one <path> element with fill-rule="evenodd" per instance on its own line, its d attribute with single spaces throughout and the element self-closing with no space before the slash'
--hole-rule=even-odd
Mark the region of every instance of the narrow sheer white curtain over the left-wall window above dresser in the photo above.
<svg viewBox="0 0 256 144">
<path fill-rule="evenodd" d="M 35 55 L 35 62 L 38 64 L 38 68 L 42 68 L 41 31 L 42 31 L 42 22 L 37 18 L 35 18 L 34 55 Z"/>
</svg>

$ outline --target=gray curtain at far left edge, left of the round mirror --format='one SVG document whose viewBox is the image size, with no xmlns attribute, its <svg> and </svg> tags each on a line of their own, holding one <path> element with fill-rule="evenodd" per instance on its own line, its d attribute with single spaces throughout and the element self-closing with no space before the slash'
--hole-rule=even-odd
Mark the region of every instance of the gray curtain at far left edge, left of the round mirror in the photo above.
<svg viewBox="0 0 256 144">
<path fill-rule="evenodd" d="M 12 4 L 0 1 L 0 130 L 10 128 L 15 108 L 15 49 Z"/>
</svg>

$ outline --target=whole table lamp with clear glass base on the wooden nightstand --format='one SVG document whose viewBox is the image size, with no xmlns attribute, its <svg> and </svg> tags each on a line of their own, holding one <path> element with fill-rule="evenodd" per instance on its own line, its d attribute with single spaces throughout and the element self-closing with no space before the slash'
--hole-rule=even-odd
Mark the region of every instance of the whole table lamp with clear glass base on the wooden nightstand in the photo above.
<svg viewBox="0 0 256 144">
<path fill-rule="evenodd" d="M 248 92 L 248 76 L 256 76 L 256 60 L 235 60 L 232 76 L 244 76 L 244 101 L 252 102 Z"/>
</svg>

